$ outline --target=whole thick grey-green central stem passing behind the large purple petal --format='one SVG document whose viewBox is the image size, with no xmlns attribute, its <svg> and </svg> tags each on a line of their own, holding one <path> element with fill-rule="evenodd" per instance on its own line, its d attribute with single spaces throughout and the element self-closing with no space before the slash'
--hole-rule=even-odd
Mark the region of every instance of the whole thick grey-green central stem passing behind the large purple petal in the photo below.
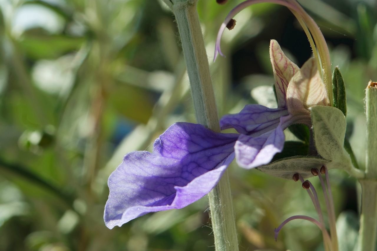
<svg viewBox="0 0 377 251">
<path fill-rule="evenodd" d="M 187 64 L 196 119 L 219 132 L 219 118 L 207 52 L 196 10 L 197 0 L 172 0 L 183 54 Z M 237 251 L 238 240 L 227 172 L 208 194 L 216 251 Z"/>
</svg>

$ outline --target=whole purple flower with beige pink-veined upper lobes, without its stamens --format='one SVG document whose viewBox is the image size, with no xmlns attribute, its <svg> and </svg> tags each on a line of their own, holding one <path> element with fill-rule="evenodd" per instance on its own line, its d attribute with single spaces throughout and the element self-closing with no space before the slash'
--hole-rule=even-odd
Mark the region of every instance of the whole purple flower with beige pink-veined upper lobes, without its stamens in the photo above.
<svg viewBox="0 0 377 251">
<path fill-rule="evenodd" d="M 301 69 L 271 40 L 270 57 L 278 108 L 249 104 L 225 115 L 217 133 L 199 124 L 178 122 L 153 144 L 153 152 L 127 153 L 110 175 L 104 220 L 121 226 L 149 212 L 183 208 L 207 194 L 236 158 L 244 168 L 267 164 L 284 147 L 289 125 L 311 125 L 310 106 L 328 105 L 328 97 L 313 59 Z"/>
</svg>

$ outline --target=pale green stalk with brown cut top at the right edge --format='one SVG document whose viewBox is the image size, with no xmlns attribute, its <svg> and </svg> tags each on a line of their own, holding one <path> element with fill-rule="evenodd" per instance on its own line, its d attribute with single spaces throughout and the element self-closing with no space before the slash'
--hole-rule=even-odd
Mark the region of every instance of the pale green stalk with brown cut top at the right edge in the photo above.
<svg viewBox="0 0 377 251">
<path fill-rule="evenodd" d="M 366 87 L 366 163 L 362 188 L 359 251 L 375 251 L 377 239 L 377 83 Z"/>
</svg>

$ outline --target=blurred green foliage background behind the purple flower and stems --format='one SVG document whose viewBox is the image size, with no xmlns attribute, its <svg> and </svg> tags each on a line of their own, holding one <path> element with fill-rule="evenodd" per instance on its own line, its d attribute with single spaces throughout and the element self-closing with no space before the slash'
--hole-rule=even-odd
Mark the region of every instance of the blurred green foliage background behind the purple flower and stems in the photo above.
<svg viewBox="0 0 377 251">
<path fill-rule="evenodd" d="M 217 30 L 239 2 L 199 1 L 210 61 Z M 347 137 L 363 165 L 364 89 L 377 79 L 377 5 L 299 2 L 344 77 Z M 0 7 L 0 250 L 213 250 L 205 198 L 113 230 L 103 223 L 107 177 L 123 155 L 150 149 L 173 122 L 195 122 L 169 9 L 158 0 L 1 0 Z M 299 65 L 311 53 L 285 8 L 260 4 L 236 20 L 223 37 L 227 57 L 211 63 L 221 115 L 247 103 L 271 105 L 269 39 Z M 288 132 L 287 139 L 297 141 Z M 321 250 L 310 223 L 292 222 L 273 239 L 285 218 L 315 215 L 300 184 L 230 169 L 241 250 Z M 357 211 L 355 181 L 330 174 L 337 213 Z"/>
</svg>

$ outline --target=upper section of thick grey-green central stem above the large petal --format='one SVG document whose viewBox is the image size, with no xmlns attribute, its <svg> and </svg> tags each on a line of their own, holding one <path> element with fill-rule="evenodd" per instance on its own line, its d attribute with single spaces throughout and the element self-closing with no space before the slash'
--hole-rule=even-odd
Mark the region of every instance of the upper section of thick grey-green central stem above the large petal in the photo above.
<svg viewBox="0 0 377 251">
<path fill-rule="evenodd" d="M 196 2 L 196 0 L 175 0 L 173 12 L 181 36 L 196 119 L 198 123 L 219 131 L 215 95 Z"/>
</svg>

